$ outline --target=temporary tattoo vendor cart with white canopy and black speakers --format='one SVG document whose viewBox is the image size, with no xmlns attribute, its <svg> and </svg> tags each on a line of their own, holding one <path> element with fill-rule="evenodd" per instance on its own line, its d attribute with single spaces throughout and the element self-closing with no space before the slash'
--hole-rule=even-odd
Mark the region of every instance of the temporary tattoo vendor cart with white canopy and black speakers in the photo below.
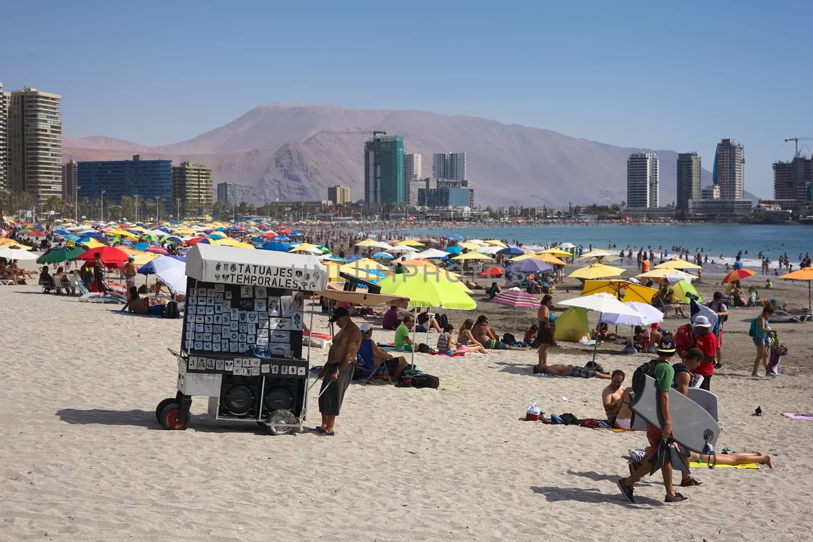
<svg viewBox="0 0 813 542">
<path fill-rule="evenodd" d="M 201 396 L 215 420 L 259 423 L 273 435 L 301 430 L 311 353 L 309 341 L 302 357 L 304 293 L 327 284 L 319 260 L 198 243 L 186 276 L 180 351 L 169 349 L 177 392 L 155 408 L 159 423 L 186 429 Z"/>
</svg>

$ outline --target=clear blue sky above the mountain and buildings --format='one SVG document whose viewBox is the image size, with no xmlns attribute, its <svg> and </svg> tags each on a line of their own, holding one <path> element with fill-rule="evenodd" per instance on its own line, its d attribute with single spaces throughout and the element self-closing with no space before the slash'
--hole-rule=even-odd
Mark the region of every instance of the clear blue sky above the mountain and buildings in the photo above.
<svg viewBox="0 0 813 542">
<path fill-rule="evenodd" d="M 210 4 L 12 2 L 0 81 L 63 94 L 68 136 L 146 145 L 267 102 L 482 116 L 706 169 L 733 137 L 763 197 L 785 137 L 813 137 L 808 2 Z"/>
</svg>

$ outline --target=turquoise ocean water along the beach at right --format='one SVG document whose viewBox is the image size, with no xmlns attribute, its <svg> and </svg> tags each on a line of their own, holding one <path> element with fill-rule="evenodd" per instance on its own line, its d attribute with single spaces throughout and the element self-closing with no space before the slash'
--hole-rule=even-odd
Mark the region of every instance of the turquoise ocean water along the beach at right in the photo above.
<svg viewBox="0 0 813 542">
<path fill-rule="evenodd" d="M 813 253 L 813 227 L 786 225 L 739 225 L 739 224 L 647 224 L 624 226 L 619 224 L 589 226 L 517 226 L 494 225 L 488 228 L 449 228 L 449 229 L 415 229 L 406 232 L 409 236 L 439 237 L 447 233 L 458 233 L 467 239 L 507 239 L 520 241 L 523 245 L 550 245 L 551 243 L 570 242 L 583 245 L 585 252 L 589 245 L 593 249 L 609 249 L 619 252 L 627 246 L 633 248 L 633 257 L 637 248 L 652 247 L 655 254 L 672 247 L 680 246 L 694 255 L 701 252 L 709 255 L 709 262 L 732 263 L 737 252 L 742 250 L 741 257 L 746 267 L 759 270 L 759 252 L 772 262 L 788 254 L 794 268 L 798 268 L 799 254 L 802 257 Z M 745 254 L 747 250 L 747 254 Z M 720 259 L 720 254 L 723 258 Z"/>
</svg>

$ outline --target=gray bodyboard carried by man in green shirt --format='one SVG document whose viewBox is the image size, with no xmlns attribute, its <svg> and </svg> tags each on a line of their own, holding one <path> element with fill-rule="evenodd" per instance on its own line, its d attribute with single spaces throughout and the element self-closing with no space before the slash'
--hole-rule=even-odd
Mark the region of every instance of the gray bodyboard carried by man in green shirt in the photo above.
<svg viewBox="0 0 813 542">
<path fill-rule="evenodd" d="M 644 375 L 644 378 L 646 384 L 644 384 L 641 397 L 630 398 L 629 408 L 636 414 L 633 416 L 633 422 L 640 423 L 642 420 L 663 429 L 655 379 L 649 375 Z M 717 425 L 715 418 L 705 408 L 689 397 L 685 397 L 675 388 L 669 390 L 669 414 L 672 418 L 672 438 L 680 446 L 702 453 L 706 440 L 711 444 L 717 443 L 720 426 Z M 633 429 L 636 428 L 637 423 L 633 424 Z"/>
</svg>

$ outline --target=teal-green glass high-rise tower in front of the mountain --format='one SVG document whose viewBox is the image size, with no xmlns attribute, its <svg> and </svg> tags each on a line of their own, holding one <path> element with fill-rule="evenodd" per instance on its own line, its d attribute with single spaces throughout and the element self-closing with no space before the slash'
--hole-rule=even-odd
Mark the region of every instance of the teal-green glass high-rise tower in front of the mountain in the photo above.
<svg viewBox="0 0 813 542">
<path fill-rule="evenodd" d="M 404 202 L 404 141 L 401 136 L 364 142 L 364 202 L 381 209 Z"/>
</svg>

